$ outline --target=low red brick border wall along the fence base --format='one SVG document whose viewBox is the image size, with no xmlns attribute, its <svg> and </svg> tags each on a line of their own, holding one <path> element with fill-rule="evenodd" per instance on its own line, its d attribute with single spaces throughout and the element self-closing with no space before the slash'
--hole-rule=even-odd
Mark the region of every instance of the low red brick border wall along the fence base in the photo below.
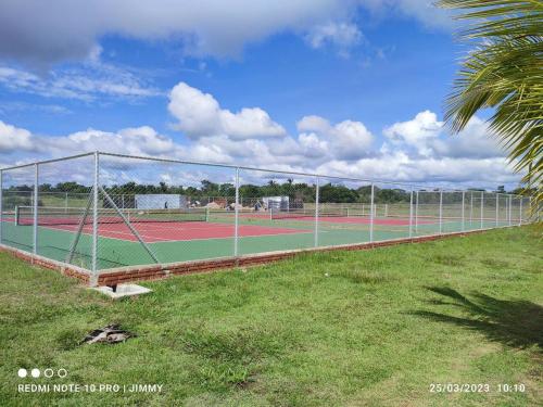
<svg viewBox="0 0 543 407">
<path fill-rule="evenodd" d="M 507 226 L 502 228 L 509 228 L 509 227 L 515 227 L 515 226 Z M 240 256 L 238 258 L 223 257 L 210 260 L 193 260 L 193 262 L 171 263 L 161 265 L 119 267 L 101 272 L 98 276 L 98 281 L 96 284 L 114 285 L 130 281 L 159 280 L 168 278 L 169 276 L 180 276 L 180 275 L 188 275 L 195 272 L 210 272 L 214 270 L 229 269 L 235 267 L 262 265 L 286 258 L 291 258 L 302 253 L 319 253 L 319 252 L 332 252 L 341 250 L 346 250 L 346 251 L 370 250 L 374 247 L 384 247 L 395 244 L 420 243 L 420 242 L 442 240 L 455 237 L 463 237 L 466 234 L 481 233 L 493 229 L 478 229 L 478 230 L 470 230 L 465 232 L 455 232 L 447 234 L 384 240 L 374 243 L 355 243 L 355 244 L 346 244 L 339 246 L 292 250 L 283 252 L 269 252 L 263 254 L 251 254 L 251 255 Z M 0 244 L 0 251 L 12 253 L 15 257 L 21 258 L 30 264 L 60 271 L 64 276 L 77 278 L 87 285 L 96 285 L 92 284 L 90 271 L 85 270 L 83 268 L 78 268 L 76 266 L 72 266 L 61 262 L 55 262 L 39 255 L 34 255 L 31 253 L 27 253 L 3 244 Z"/>
</svg>

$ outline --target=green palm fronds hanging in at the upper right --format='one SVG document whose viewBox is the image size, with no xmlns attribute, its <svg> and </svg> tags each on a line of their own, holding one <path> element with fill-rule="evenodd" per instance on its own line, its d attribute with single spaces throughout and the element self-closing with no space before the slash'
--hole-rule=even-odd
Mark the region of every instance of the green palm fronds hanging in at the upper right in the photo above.
<svg viewBox="0 0 543 407">
<path fill-rule="evenodd" d="M 543 1 L 439 0 L 470 22 L 459 37 L 473 47 L 445 103 L 445 119 L 462 130 L 492 107 L 490 129 L 508 151 L 522 181 L 543 202 Z"/>
</svg>

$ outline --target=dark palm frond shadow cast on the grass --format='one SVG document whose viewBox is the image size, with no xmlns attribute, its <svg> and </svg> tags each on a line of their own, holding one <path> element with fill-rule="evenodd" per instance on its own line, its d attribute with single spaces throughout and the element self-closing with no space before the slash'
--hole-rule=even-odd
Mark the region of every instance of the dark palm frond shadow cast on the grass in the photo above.
<svg viewBox="0 0 543 407">
<path fill-rule="evenodd" d="M 475 292 L 470 298 L 450 288 L 428 287 L 440 294 L 434 305 L 453 305 L 468 317 L 418 310 L 414 315 L 482 332 L 489 340 L 514 347 L 536 345 L 543 352 L 543 307 L 529 301 L 507 301 Z"/>
</svg>

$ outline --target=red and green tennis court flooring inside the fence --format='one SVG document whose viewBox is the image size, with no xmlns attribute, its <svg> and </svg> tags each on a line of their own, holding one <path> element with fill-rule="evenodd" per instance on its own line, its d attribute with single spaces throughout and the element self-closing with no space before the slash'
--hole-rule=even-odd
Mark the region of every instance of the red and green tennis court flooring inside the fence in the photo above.
<svg viewBox="0 0 543 407">
<path fill-rule="evenodd" d="M 78 209 L 81 211 L 80 208 Z M 64 212 L 64 213 L 63 213 Z M 65 214 L 72 212 L 72 215 Z M 77 211 L 65 208 L 60 212 L 51 208 L 38 211 L 37 253 L 55 260 L 65 262 L 78 233 L 80 216 Z M 235 214 L 226 211 L 206 213 L 205 218 L 187 213 L 154 211 L 141 214 L 139 218 L 126 215 L 130 226 L 141 240 L 151 249 L 161 263 L 209 259 L 231 256 L 236 234 Z M 17 249 L 31 251 L 33 214 L 16 215 L 3 219 L 3 242 Z M 242 213 L 239 215 L 238 241 L 240 254 L 254 254 L 273 251 L 311 249 L 317 244 L 332 246 L 370 241 L 401 239 L 409 236 L 439 233 L 439 219 L 412 219 L 403 217 L 338 216 L 285 214 L 270 218 L 267 213 Z M 490 227 L 493 220 L 483 221 Z M 442 219 L 442 228 L 463 230 L 462 219 Z M 464 229 L 478 229 L 480 220 L 464 225 Z M 91 258 L 92 222 L 83 222 L 79 242 L 74 251 L 72 263 L 86 266 Z M 101 269 L 153 263 L 134 231 L 114 216 L 111 211 L 102 214 L 98 222 L 99 267 Z"/>
</svg>

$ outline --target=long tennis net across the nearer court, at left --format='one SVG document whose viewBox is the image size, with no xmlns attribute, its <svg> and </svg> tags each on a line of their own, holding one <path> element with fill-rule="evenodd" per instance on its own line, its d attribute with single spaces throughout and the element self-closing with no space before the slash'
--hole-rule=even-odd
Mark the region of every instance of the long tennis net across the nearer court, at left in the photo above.
<svg viewBox="0 0 543 407">
<path fill-rule="evenodd" d="M 205 207 L 186 209 L 119 209 L 129 222 L 184 222 L 207 221 L 209 211 Z M 38 226 L 79 225 L 85 216 L 85 207 L 41 207 L 38 206 Z M 34 225 L 34 207 L 15 207 L 16 225 Z M 92 209 L 83 220 L 92 224 Z M 99 224 L 123 224 L 124 219 L 117 211 L 112 208 L 98 209 Z"/>
</svg>

